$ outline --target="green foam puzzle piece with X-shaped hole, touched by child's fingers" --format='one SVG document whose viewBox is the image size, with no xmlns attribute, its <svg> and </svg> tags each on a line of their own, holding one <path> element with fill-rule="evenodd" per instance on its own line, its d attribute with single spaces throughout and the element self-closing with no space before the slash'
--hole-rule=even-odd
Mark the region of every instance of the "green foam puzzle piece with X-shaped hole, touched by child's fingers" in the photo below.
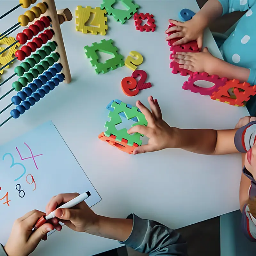
<svg viewBox="0 0 256 256">
<path fill-rule="evenodd" d="M 110 122 L 106 122 L 105 127 L 107 127 L 106 132 L 104 133 L 105 136 L 110 137 L 111 134 L 116 136 L 116 141 L 122 141 L 122 139 L 128 140 L 127 144 L 129 146 L 133 146 L 133 143 L 137 143 L 139 146 L 141 145 L 142 141 L 140 140 L 140 136 L 143 136 L 143 134 L 140 134 L 138 132 L 130 135 L 127 133 L 127 129 L 123 128 L 121 130 L 116 129 L 116 124 L 121 124 L 122 119 L 119 116 L 119 113 L 124 112 L 127 119 L 132 119 L 133 117 L 138 118 L 138 122 L 132 124 L 132 127 L 135 125 L 148 125 L 148 122 L 145 118 L 145 116 L 138 111 L 138 108 L 132 107 L 127 108 L 124 102 L 121 102 L 121 104 L 116 103 L 115 101 L 112 103 L 112 108 L 114 108 L 114 111 L 110 111 L 108 114 L 108 117 L 110 117 Z"/>
</svg>

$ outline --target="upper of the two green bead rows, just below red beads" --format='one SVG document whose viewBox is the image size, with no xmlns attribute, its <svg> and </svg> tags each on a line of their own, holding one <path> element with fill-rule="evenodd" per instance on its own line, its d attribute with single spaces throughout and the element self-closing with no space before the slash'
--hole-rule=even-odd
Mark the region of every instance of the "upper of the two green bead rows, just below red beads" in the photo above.
<svg viewBox="0 0 256 256">
<path fill-rule="evenodd" d="M 17 76 L 23 76 L 25 72 L 28 72 L 30 68 L 33 68 L 36 64 L 39 63 L 40 60 L 43 60 L 46 57 L 46 55 L 49 55 L 49 47 L 51 49 L 51 52 L 53 52 L 56 50 L 57 45 L 55 42 L 48 42 L 46 45 L 42 47 L 41 50 L 38 50 L 36 53 L 32 54 L 30 58 L 22 62 L 16 68 L 14 68 L 15 74 Z M 55 55 L 54 58 L 56 59 Z M 56 60 L 55 62 L 57 61 L 58 60 Z"/>
</svg>

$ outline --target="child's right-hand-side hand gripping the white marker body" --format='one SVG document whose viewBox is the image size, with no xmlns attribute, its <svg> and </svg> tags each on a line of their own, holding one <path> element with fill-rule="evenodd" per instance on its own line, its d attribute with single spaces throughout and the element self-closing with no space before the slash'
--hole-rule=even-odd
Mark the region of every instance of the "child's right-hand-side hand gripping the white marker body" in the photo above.
<svg viewBox="0 0 256 256">
<path fill-rule="evenodd" d="M 53 212 L 58 206 L 69 202 L 76 196 L 79 196 L 79 194 L 72 193 L 53 196 L 46 206 L 46 213 L 49 214 Z M 98 222 L 99 217 L 84 201 L 70 209 L 57 209 L 55 215 L 57 218 L 54 218 L 54 223 L 55 221 L 61 221 L 68 226 L 68 228 L 78 232 L 90 232 L 90 229 Z"/>
</svg>

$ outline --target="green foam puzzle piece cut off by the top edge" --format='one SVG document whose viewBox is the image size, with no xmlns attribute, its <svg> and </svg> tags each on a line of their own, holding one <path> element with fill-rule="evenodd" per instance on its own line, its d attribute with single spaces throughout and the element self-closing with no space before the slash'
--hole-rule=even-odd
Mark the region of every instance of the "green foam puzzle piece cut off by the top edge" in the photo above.
<svg viewBox="0 0 256 256">
<path fill-rule="evenodd" d="M 120 1 L 128 10 L 120 10 L 112 7 L 116 1 Z M 133 0 L 103 0 L 103 3 L 100 5 L 101 9 L 106 9 L 108 15 L 113 15 L 116 21 L 120 21 L 122 24 L 126 21 L 126 19 L 130 19 L 132 14 L 137 12 L 137 9 L 140 6 L 138 4 L 134 4 Z"/>
</svg>

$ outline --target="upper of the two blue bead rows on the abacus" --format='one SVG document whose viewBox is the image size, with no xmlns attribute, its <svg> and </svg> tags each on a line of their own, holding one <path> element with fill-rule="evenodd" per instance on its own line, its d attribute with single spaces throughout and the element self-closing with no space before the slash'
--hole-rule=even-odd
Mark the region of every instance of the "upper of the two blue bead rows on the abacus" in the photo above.
<svg viewBox="0 0 256 256">
<path fill-rule="evenodd" d="M 61 70 L 62 65 L 60 63 L 55 63 L 52 68 L 49 68 L 48 71 L 44 72 L 43 76 L 46 76 L 47 79 L 49 78 L 50 80 L 53 76 L 56 76 L 57 73 L 60 73 Z M 52 76 L 50 76 L 49 73 L 51 73 Z M 42 79 L 42 77 L 41 79 L 35 79 L 33 83 L 30 83 L 27 87 L 23 88 L 22 92 L 18 92 L 17 95 L 12 97 L 12 103 L 16 106 L 20 105 L 21 101 L 26 100 L 27 97 L 30 97 L 33 92 L 40 89 L 43 82 L 45 82 L 45 79 Z"/>
</svg>

